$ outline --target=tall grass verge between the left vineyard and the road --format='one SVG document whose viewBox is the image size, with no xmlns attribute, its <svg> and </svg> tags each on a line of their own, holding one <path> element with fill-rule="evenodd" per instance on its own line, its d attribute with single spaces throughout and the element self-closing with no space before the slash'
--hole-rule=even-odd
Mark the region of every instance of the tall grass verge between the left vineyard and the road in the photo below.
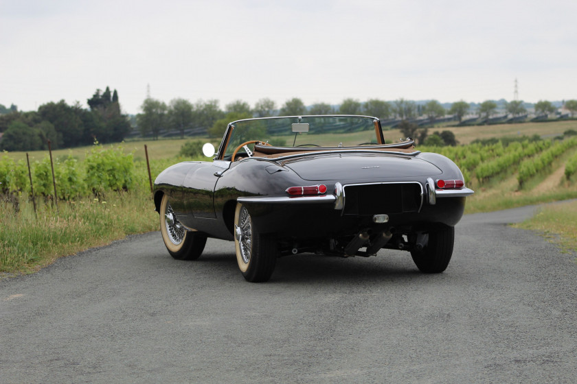
<svg viewBox="0 0 577 384">
<path fill-rule="evenodd" d="M 0 272 L 30 273 L 63 255 L 109 244 L 127 235 L 158 229 L 150 193 L 109 193 L 106 200 L 38 204 L 18 211 L 0 202 Z"/>
</svg>

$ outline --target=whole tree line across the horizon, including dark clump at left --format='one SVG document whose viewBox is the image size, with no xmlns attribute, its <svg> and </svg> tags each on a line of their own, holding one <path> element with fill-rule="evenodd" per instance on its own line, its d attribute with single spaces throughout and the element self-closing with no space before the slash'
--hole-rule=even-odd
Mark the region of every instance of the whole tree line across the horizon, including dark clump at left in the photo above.
<svg viewBox="0 0 577 384">
<path fill-rule="evenodd" d="M 61 100 L 58 103 L 44 104 L 36 112 L 18 112 L 14 105 L 10 109 L 2 106 L 0 113 L 4 113 L 0 115 L 0 133 L 3 133 L 3 137 L 0 140 L 0 150 L 46 149 L 48 140 L 53 148 L 89 145 L 95 140 L 100 143 L 113 143 L 122 141 L 131 132 L 130 120 L 120 110 L 116 90 L 111 93 L 108 86 L 104 92 L 97 89 L 93 96 L 87 99 L 87 104 L 88 110 L 82 108 L 78 102 L 69 106 Z M 316 103 L 307 107 L 298 97 L 277 106 L 275 101 L 265 97 L 258 100 L 252 108 L 246 101 L 239 99 L 221 109 L 216 99 L 192 103 L 187 99 L 176 98 L 166 104 L 159 99 L 147 97 L 140 106 L 140 113 L 135 117 L 135 125 L 141 136 L 152 136 L 153 139 L 158 139 L 159 135 L 166 131 L 177 132 L 184 137 L 185 132 L 190 129 L 196 130 L 196 134 L 217 138 L 222 136 L 230 121 L 251 117 L 369 115 L 378 117 L 381 121 L 403 121 L 398 127 L 403 134 L 406 132 L 407 136 L 410 134 L 410 137 L 424 143 L 427 130 L 420 129 L 409 121 L 426 117 L 432 125 L 436 119 L 452 115 L 461 122 L 470 112 L 478 113 L 482 119 L 489 119 L 495 115 L 497 107 L 497 103 L 492 100 L 483 101 L 479 108 L 473 111 L 471 104 L 463 100 L 451 104 L 450 108 L 444 108 L 437 100 L 418 104 L 403 98 L 395 101 L 369 99 L 364 102 L 347 98 L 343 99 L 339 106 Z M 505 107 L 513 116 L 521 116 L 527 112 L 523 101 L 510 101 Z M 577 100 L 565 101 L 565 108 L 573 115 L 577 112 Z M 556 110 L 554 105 L 546 100 L 536 103 L 534 109 L 537 115 L 551 114 Z M 453 143 L 446 132 L 438 132 L 437 137 L 431 139 L 437 143 Z"/>
</svg>

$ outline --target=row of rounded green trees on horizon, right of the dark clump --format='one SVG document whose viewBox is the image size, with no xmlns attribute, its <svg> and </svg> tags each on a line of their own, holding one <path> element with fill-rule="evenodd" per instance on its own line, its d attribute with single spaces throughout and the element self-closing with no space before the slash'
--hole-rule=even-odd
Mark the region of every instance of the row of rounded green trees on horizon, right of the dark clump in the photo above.
<svg viewBox="0 0 577 384">
<path fill-rule="evenodd" d="M 544 100 L 536 103 L 534 108 L 537 115 L 551 114 L 556 110 L 551 101 Z M 565 102 L 565 108 L 571 110 L 572 113 L 577 112 L 577 100 Z M 348 98 L 336 107 L 326 103 L 316 103 L 307 107 L 302 99 L 294 97 L 286 100 L 280 108 L 272 99 L 263 98 L 258 100 L 253 108 L 246 101 L 236 100 L 221 110 L 216 99 L 197 101 L 196 104 L 192 104 L 186 99 L 177 98 L 172 99 L 167 105 L 163 101 L 148 97 L 140 109 L 142 113 L 137 115 L 139 132 L 142 136 L 152 136 L 157 139 L 164 130 L 179 132 L 180 136 L 184 137 L 185 130 L 189 128 L 201 128 L 201 132 L 218 137 L 223 134 L 226 124 L 230 121 L 251 117 L 340 114 L 368 115 L 378 117 L 382 121 L 389 119 L 410 121 L 424 116 L 432 124 L 435 119 L 453 115 L 461 122 L 463 117 L 471 112 L 471 104 L 461 100 L 446 109 L 437 100 L 421 105 L 403 98 L 395 101 L 369 99 L 365 102 Z M 491 100 L 484 101 L 478 110 L 475 110 L 485 119 L 494 115 L 496 111 L 497 103 Z M 507 103 L 506 111 L 513 116 L 527 112 L 523 101 L 518 100 Z"/>
</svg>

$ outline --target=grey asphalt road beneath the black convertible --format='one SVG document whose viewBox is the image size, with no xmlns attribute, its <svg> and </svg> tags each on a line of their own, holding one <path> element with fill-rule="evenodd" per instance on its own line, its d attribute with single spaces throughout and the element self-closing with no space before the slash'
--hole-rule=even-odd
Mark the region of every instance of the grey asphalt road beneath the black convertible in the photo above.
<svg viewBox="0 0 577 384">
<path fill-rule="evenodd" d="M 575 383 L 577 263 L 467 215 L 443 274 L 406 252 L 175 261 L 159 232 L 0 281 L 0 383 Z"/>
</svg>

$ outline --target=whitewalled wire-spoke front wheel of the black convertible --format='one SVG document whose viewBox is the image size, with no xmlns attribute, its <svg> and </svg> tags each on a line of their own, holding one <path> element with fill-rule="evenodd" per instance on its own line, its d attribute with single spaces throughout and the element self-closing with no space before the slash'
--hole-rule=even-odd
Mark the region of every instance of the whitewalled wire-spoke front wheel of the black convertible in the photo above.
<svg viewBox="0 0 577 384">
<path fill-rule="evenodd" d="M 168 195 L 163 195 L 160 203 L 160 232 L 168 253 L 174 259 L 196 260 L 203 253 L 206 235 L 186 230 L 179 223 L 168 202 Z"/>
</svg>

